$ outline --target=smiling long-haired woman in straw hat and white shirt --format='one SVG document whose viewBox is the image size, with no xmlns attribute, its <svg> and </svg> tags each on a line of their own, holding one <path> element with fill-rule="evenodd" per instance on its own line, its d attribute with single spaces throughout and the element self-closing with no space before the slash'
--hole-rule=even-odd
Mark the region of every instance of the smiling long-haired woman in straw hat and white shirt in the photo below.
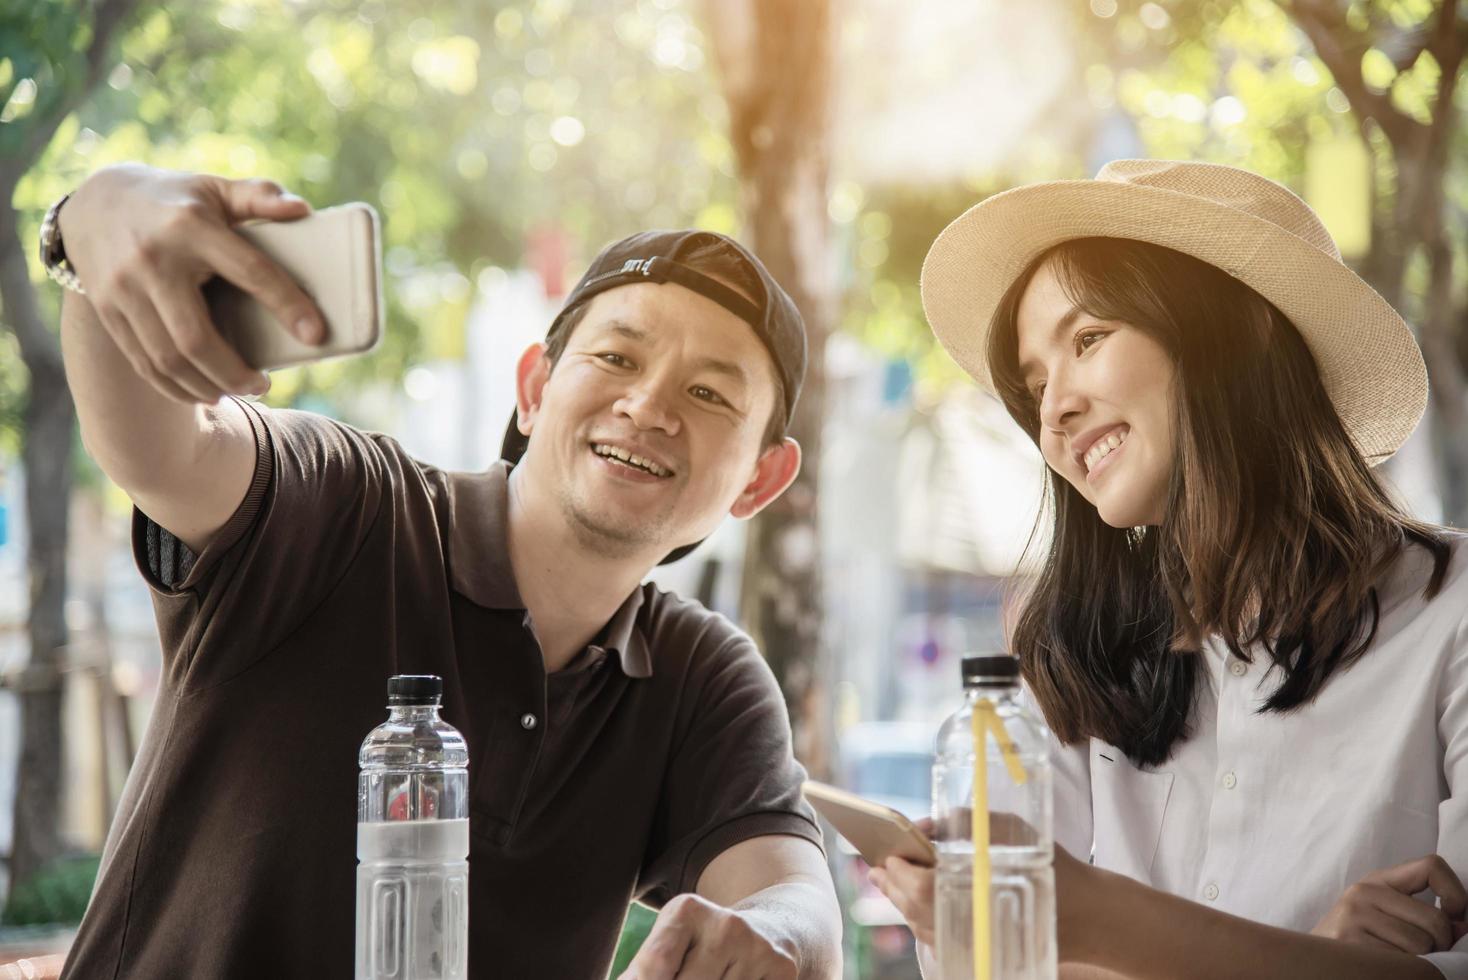
<svg viewBox="0 0 1468 980">
<path fill-rule="evenodd" d="M 1061 957 L 1468 979 L 1468 549 L 1371 471 L 1425 406 L 1402 318 L 1280 185 L 1148 160 L 970 208 L 922 292 L 1050 468 L 1013 648 L 1057 841 L 1124 876 L 1057 857 Z M 873 880 L 931 940 L 931 873 Z"/>
</svg>

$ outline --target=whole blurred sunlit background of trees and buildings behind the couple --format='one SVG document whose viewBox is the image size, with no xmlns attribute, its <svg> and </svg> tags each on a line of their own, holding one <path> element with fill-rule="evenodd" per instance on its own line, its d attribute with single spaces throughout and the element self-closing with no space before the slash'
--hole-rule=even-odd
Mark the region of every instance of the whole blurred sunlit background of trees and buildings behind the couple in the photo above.
<svg viewBox="0 0 1468 980">
<path fill-rule="evenodd" d="M 515 355 L 602 244 L 752 245 L 813 332 L 806 471 L 658 577 L 762 643 L 813 773 L 919 813 L 959 657 L 1003 647 L 1041 489 L 932 342 L 928 244 L 989 194 L 1117 157 L 1282 180 L 1417 330 L 1431 406 L 1386 477 L 1464 525 L 1465 48 L 1458 0 L 0 1 L 0 964 L 57 968 L 159 681 L 128 500 L 81 452 L 34 248 L 91 170 L 371 202 L 385 342 L 279 373 L 269 401 L 454 468 L 493 459 Z M 831 854 L 849 976 L 916 976 L 894 910 Z"/>
</svg>

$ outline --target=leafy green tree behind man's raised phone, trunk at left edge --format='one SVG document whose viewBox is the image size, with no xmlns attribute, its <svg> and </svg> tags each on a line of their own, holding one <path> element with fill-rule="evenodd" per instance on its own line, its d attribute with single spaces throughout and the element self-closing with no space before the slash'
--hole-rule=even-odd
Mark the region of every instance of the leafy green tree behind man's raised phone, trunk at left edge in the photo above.
<svg viewBox="0 0 1468 980">
<path fill-rule="evenodd" d="M 53 200 L 100 166 L 141 158 L 270 176 L 319 205 L 373 202 L 386 249 L 383 345 L 368 358 L 277 373 L 272 390 L 275 403 L 348 418 L 367 395 L 396 390 L 417 359 L 462 356 L 476 283 L 518 266 L 528 236 L 565 241 L 575 274 L 612 238 L 678 224 L 735 232 L 737 213 L 724 101 L 703 35 L 677 0 L 76 0 L 6 10 L 0 301 L 31 389 L 29 399 L 12 390 L 0 364 L 0 425 L 7 405 L 26 405 L 21 431 L 0 440 L 26 446 L 38 571 L 25 684 L 40 706 L 28 717 L 44 722 L 28 720 L 23 735 L 16 883 L 57 849 L 60 823 L 54 651 L 66 643 L 73 421 L 47 326 L 59 290 L 37 292 L 34 255 Z M 113 38 L 120 59 L 106 57 Z M 545 271 L 553 286 L 556 270 Z M 498 445 L 499 431 L 484 439 Z"/>
</svg>

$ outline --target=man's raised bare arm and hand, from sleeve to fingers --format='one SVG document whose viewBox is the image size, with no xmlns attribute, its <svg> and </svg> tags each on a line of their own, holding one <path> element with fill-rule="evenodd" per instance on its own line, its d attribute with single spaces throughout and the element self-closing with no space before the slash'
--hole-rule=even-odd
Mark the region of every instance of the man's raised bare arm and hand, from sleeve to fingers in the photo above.
<svg viewBox="0 0 1468 980">
<path fill-rule="evenodd" d="M 307 321 L 316 332 L 319 314 L 305 293 L 230 227 L 307 213 L 304 201 L 266 180 L 135 164 L 98 170 L 60 210 L 68 260 L 87 289 L 68 293 L 62 307 L 82 443 L 144 513 L 195 553 L 233 513 L 254 472 L 244 412 L 220 399 L 267 383 L 219 334 L 200 286 L 222 274 L 285 323 Z"/>
</svg>

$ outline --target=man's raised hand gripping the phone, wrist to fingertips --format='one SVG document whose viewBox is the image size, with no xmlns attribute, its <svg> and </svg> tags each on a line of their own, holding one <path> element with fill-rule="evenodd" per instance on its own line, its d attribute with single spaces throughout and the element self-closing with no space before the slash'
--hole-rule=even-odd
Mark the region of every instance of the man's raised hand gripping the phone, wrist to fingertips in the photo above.
<svg viewBox="0 0 1468 980">
<path fill-rule="evenodd" d="M 120 164 L 88 178 L 59 219 L 92 310 L 138 376 L 178 402 L 211 405 L 270 386 L 210 320 L 201 288 L 211 277 L 254 296 L 301 342 L 324 340 L 310 296 L 233 230 L 241 222 L 310 213 L 270 180 Z"/>
</svg>

